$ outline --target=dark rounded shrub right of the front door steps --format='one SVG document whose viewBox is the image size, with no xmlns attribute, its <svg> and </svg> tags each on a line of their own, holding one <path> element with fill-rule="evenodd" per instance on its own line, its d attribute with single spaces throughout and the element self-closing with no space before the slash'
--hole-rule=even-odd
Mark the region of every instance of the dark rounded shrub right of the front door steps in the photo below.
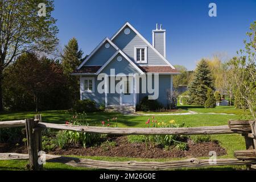
<svg viewBox="0 0 256 182">
<path fill-rule="evenodd" d="M 141 111 L 154 111 L 162 107 L 162 104 L 160 104 L 157 100 L 149 100 L 148 96 L 146 96 L 142 98 L 142 100 L 137 105 L 136 109 Z"/>
</svg>

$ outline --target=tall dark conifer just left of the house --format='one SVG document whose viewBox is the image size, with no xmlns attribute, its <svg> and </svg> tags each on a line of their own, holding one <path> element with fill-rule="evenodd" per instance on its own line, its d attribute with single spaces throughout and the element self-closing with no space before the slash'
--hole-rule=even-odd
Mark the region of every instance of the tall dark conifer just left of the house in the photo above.
<svg viewBox="0 0 256 182">
<path fill-rule="evenodd" d="M 83 52 L 79 49 L 77 39 L 72 38 L 69 40 L 68 45 L 64 47 L 63 55 L 61 55 L 61 65 L 63 67 L 64 74 L 68 78 L 68 88 L 70 93 L 71 105 L 76 100 L 79 100 L 79 77 L 72 76 L 71 73 L 82 63 Z"/>
</svg>

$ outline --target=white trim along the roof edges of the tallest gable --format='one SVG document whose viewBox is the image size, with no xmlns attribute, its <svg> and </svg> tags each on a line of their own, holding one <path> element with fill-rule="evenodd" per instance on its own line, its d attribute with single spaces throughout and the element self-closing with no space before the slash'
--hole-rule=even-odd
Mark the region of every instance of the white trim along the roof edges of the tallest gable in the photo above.
<svg viewBox="0 0 256 182">
<path fill-rule="evenodd" d="M 131 24 L 130 24 L 129 22 L 126 22 L 126 23 L 119 29 L 119 31 L 117 31 L 117 32 L 112 36 L 112 38 L 111 38 L 110 40 L 113 40 L 113 39 L 119 34 L 119 32 L 122 31 L 122 29 L 123 29 L 125 26 L 129 26 L 129 27 L 131 28 L 131 30 L 133 30 L 142 40 L 144 40 L 144 42 L 145 42 L 146 44 L 148 44 L 148 46 L 149 46 L 150 48 L 153 49 L 153 51 L 155 51 L 156 54 L 158 54 L 164 61 L 166 61 L 166 63 L 167 63 L 168 65 L 170 65 L 171 68 L 175 69 L 175 67 L 174 67 L 160 52 L 158 52 L 158 50 L 156 50 L 141 34 L 139 34 L 139 32 L 138 32 L 133 26 L 131 26 Z M 161 31 L 164 31 L 164 30 L 161 30 Z"/>
</svg>

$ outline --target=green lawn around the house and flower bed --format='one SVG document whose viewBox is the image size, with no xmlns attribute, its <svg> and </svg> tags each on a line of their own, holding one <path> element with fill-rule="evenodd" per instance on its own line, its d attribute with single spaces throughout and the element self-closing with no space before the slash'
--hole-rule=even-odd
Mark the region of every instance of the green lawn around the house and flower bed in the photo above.
<svg viewBox="0 0 256 182">
<path fill-rule="evenodd" d="M 212 113 L 213 110 L 220 113 L 228 113 L 235 115 L 221 115 L 221 114 L 191 114 L 191 115 L 158 115 L 155 119 L 159 122 L 170 121 L 174 119 L 176 123 L 185 122 L 185 126 L 195 127 L 195 126 L 217 126 L 217 125 L 227 125 L 229 119 L 243 119 L 242 110 L 234 109 L 233 107 L 217 107 L 215 109 L 204 109 L 199 106 L 179 106 L 182 109 L 199 111 L 200 113 Z M 16 112 L 16 113 L 0 113 L 0 121 L 10 121 L 14 119 L 24 119 L 34 117 L 35 112 Z M 64 110 L 56 111 L 42 111 L 40 112 L 43 117 L 43 122 L 51 123 L 65 123 L 70 117 Z M 154 115 L 154 113 L 152 114 Z M 123 115 L 119 113 L 88 113 L 87 121 L 90 126 L 100 126 L 101 121 L 106 121 L 106 119 L 111 119 L 117 117 L 118 127 L 145 127 L 145 122 L 151 116 L 140 116 L 140 115 Z M 234 158 L 234 150 L 245 150 L 245 142 L 243 137 L 239 134 L 230 135 L 212 135 L 213 139 L 220 142 L 221 146 L 226 148 L 228 154 L 221 156 L 220 158 Z M 81 156 L 79 156 L 81 158 Z M 109 158 L 109 157 L 92 157 L 92 156 L 82 156 L 89 159 L 98 160 L 112 160 L 112 161 L 126 161 L 126 160 L 145 160 L 145 159 L 134 159 L 134 158 Z M 152 160 L 152 159 L 151 159 Z M 156 161 L 165 161 L 174 159 L 158 159 Z M 24 170 L 26 166 L 26 160 L 9 160 L 0 161 L 0 169 L 2 170 Z M 74 170 L 74 169 L 84 169 L 70 167 L 65 164 L 59 163 L 47 163 L 45 165 L 46 169 L 57 169 L 57 170 Z M 228 166 L 228 167 L 212 167 L 205 169 L 244 169 L 244 166 Z"/>
</svg>

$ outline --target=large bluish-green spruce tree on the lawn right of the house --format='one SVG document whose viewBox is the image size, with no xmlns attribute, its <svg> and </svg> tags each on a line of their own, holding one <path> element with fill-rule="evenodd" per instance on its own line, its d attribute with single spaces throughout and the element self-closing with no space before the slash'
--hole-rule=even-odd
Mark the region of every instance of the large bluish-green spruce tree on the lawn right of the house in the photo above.
<svg viewBox="0 0 256 182">
<path fill-rule="evenodd" d="M 188 87 L 189 104 L 204 105 L 208 88 L 214 89 L 213 78 L 207 61 L 202 59 L 197 64 L 193 81 Z"/>
</svg>

